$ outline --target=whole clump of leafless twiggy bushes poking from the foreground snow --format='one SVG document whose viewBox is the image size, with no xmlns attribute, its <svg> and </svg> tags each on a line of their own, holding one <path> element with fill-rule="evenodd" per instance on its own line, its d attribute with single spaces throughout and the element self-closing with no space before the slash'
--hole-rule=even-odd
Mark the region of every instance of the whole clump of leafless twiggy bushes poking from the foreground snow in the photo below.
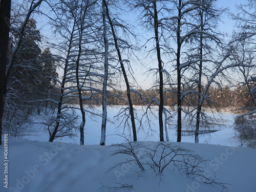
<svg viewBox="0 0 256 192">
<path fill-rule="evenodd" d="M 197 178 L 197 180 L 203 183 L 221 186 L 222 191 L 227 191 L 225 183 L 218 182 L 215 175 L 210 177 L 204 171 L 206 170 L 208 160 L 204 160 L 194 151 L 169 142 L 158 142 L 153 148 L 146 147 L 140 142 L 130 142 L 128 139 L 126 141 L 127 143 L 112 145 L 119 147 L 118 150 L 112 153 L 112 156 L 126 154 L 130 158 L 117 163 L 108 172 L 124 163 L 135 163 L 141 170 L 147 170 L 147 167 L 150 170 L 154 170 L 154 172 L 160 175 L 161 180 L 164 171 L 169 167 L 178 170 L 181 175 L 186 174 L 188 177 L 192 179 Z"/>
</svg>

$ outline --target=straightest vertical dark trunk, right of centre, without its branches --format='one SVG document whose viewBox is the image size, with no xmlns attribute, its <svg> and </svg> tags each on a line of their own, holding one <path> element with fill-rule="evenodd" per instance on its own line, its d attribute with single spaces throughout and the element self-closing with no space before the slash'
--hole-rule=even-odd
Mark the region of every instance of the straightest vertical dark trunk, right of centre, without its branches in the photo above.
<svg viewBox="0 0 256 192">
<path fill-rule="evenodd" d="M 177 142 L 181 142 L 181 69 L 180 69 L 180 52 L 181 52 L 181 36 L 180 36 L 180 28 L 181 28 L 181 3 L 179 0 L 179 12 L 178 12 L 178 27 L 177 27 Z"/>
</svg>

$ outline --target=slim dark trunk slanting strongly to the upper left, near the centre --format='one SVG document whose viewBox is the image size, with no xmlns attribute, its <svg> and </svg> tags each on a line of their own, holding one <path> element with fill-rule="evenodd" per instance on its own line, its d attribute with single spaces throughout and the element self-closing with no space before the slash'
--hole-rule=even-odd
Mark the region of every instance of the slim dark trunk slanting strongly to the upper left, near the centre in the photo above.
<svg viewBox="0 0 256 192">
<path fill-rule="evenodd" d="M 123 73 L 123 78 L 124 78 L 125 85 L 126 85 L 126 93 L 127 93 L 128 103 L 129 103 L 131 122 L 132 122 L 132 130 L 133 130 L 133 141 L 137 141 L 137 133 L 136 133 L 136 125 L 135 125 L 135 117 L 134 117 L 134 109 L 133 109 L 133 102 L 132 102 L 132 97 L 131 97 L 130 84 L 129 84 L 129 80 L 127 78 L 126 71 L 125 71 L 125 68 L 124 68 L 124 65 L 123 65 L 123 60 L 122 60 L 121 52 L 120 52 L 119 45 L 118 45 L 118 42 L 117 42 L 117 36 L 116 36 L 116 33 L 115 33 L 114 25 L 113 25 L 112 19 L 111 19 L 110 14 L 109 14 L 108 4 L 106 3 L 105 0 L 103 0 L 103 2 L 104 2 L 105 9 L 106 9 L 106 16 L 108 17 L 109 23 L 110 23 L 110 26 L 111 26 L 112 35 L 113 35 L 113 38 L 114 38 L 114 41 L 115 41 L 115 48 L 116 48 L 116 51 L 117 51 L 117 54 L 118 54 L 118 59 L 119 59 L 119 62 L 120 62 L 120 66 L 121 66 L 122 73 Z"/>
</svg>

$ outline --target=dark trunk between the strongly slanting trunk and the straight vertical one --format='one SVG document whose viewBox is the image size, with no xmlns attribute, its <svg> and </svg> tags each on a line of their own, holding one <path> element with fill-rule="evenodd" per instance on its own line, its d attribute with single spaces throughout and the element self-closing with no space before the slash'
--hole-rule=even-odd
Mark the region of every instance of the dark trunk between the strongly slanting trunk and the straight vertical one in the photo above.
<svg viewBox="0 0 256 192">
<path fill-rule="evenodd" d="M 164 141 L 163 137 L 163 67 L 162 67 L 162 59 L 159 45 L 159 36 L 158 36 L 158 12 L 157 12 L 157 3 L 154 4 L 154 29 L 155 29 L 155 38 L 156 38 L 156 50 L 157 50 L 157 60 L 158 60 L 158 71 L 159 71 L 159 111 L 158 111 L 158 120 L 159 120 L 159 137 L 160 141 Z"/>
</svg>

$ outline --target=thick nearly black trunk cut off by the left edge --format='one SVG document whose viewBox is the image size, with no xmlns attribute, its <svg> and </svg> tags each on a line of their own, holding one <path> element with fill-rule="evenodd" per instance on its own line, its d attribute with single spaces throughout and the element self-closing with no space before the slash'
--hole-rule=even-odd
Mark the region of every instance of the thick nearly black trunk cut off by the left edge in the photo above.
<svg viewBox="0 0 256 192">
<path fill-rule="evenodd" d="M 3 116 L 7 92 L 6 69 L 10 32 L 11 0 L 1 0 L 0 4 L 0 144 L 2 144 Z"/>
</svg>

